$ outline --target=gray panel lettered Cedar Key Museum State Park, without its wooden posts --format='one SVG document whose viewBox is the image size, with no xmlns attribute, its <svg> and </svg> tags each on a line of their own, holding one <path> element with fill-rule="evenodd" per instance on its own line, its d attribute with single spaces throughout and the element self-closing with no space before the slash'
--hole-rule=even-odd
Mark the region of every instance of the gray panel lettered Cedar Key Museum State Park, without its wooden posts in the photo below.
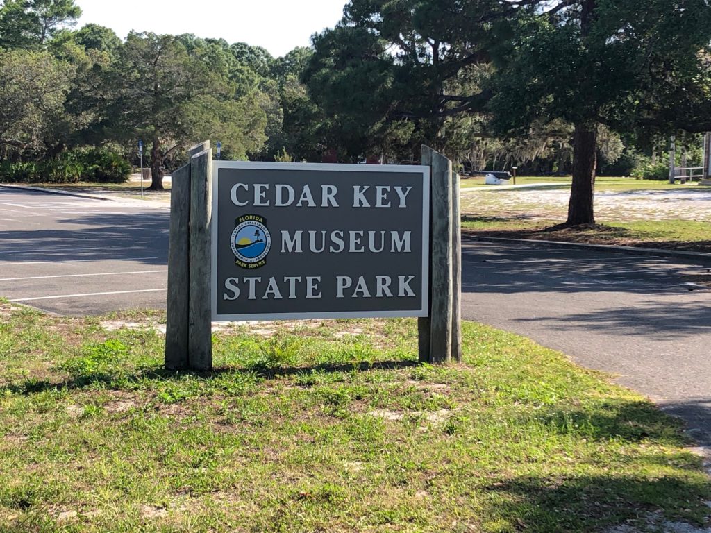
<svg viewBox="0 0 711 533">
<path fill-rule="evenodd" d="M 427 316 L 429 167 L 213 162 L 213 321 Z"/>
</svg>

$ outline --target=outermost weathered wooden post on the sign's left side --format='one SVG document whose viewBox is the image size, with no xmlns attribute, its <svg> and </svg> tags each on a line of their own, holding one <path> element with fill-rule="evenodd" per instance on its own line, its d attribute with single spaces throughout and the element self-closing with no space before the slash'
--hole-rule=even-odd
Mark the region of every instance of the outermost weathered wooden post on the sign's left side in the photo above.
<svg viewBox="0 0 711 533">
<path fill-rule="evenodd" d="M 210 148 L 204 141 L 188 149 L 188 164 L 171 176 L 171 218 L 168 247 L 168 306 L 165 365 L 169 370 L 190 368 L 188 324 L 190 323 L 190 158 Z"/>
</svg>

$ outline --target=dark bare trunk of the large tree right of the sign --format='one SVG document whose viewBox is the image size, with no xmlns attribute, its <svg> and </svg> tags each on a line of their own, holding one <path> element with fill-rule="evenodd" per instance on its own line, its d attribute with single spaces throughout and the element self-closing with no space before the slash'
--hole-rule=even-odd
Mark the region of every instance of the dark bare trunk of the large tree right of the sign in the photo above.
<svg viewBox="0 0 711 533">
<path fill-rule="evenodd" d="M 594 224 L 593 195 L 597 169 L 597 124 L 575 124 L 573 136 L 573 183 L 567 225 Z"/>
</svg>

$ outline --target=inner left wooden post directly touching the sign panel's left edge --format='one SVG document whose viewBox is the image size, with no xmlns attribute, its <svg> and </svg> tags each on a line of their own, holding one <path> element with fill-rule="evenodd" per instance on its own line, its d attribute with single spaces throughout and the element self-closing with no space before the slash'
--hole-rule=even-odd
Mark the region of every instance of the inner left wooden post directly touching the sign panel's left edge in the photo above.
<svg viewBox="0 0 711 533">
<path fill-rule="evenodd" d="M 190 298 L 188 302 L 188 362 L 191 370 L 213 369 L 210 276 L 212 260 L 212 151 L 191 158 Z"/>
</svg>

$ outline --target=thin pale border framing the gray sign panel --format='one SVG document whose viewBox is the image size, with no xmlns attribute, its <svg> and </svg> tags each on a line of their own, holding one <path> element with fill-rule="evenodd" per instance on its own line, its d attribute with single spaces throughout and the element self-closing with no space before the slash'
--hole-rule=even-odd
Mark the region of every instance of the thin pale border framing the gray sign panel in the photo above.
<svg viewBox="0 0 711 533">
<path fill-rule="evenodd" d="M 210 261 L 210 310 L 213 322 L 311 320 L 330 318 L 422 318 L 429 316 L 429 166 L 423 165 L 347 165 L 336 163 L 263 163 L 259 161 L 214 161 L 212 162 L 212 212 L 210 215 L 211 261 Z M 317 313 L 262 313 L 239 315 L 218 315 L 218 198 L 220 192 L 219 173 L 221 168 L 254 168 L 257 170 L 292 171 L 338 171 L 338 172 L 380 172 L 412 173 L 422 176 L 422 308 L 408 311 L 334 311 Z"/>
</svg>

